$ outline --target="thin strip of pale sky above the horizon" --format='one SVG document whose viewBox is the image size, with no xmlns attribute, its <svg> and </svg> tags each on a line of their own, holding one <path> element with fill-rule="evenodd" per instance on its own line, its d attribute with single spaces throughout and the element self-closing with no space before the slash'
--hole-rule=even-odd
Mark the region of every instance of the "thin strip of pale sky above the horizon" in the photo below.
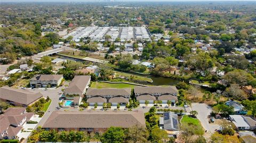
<svg viewBox="0 0 256 143">
<path fill-rule="evenodd" d="M 0 2 L 107 2 L 110 0 L 0 0 Z M 114 1 L 114 0 L 112 0 Z M 218 2 L 218 1 L 253 1 L 256 0 L 115 0 L 116 2 Z"/>
</svg>

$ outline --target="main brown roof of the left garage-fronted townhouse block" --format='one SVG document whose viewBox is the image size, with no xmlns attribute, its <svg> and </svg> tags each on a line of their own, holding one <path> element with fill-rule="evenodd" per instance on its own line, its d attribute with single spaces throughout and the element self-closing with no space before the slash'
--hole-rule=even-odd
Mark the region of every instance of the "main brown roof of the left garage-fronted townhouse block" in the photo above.
<svg viewBox="0 0 256 143">
<path fill-rule="evenodd" d="M 86 91 L 86 95 L 88 96 L 130 96 L 131 95 L 131 88 L 102 88 L 102 89 L 95 89 L 89 88 Z"/>
</svg>

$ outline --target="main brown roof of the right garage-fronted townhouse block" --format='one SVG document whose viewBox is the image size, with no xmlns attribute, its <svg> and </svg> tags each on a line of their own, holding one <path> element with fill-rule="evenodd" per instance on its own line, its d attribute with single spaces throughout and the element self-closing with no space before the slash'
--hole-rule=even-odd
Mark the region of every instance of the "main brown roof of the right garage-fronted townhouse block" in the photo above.
<svg viewBox="0 0 256 143">
<path fill-rule="evenodd" d="M 149 86 L 149 87 L 134 87 L 135 94 L 177 94 L 178 89 L 175 86 L 160 87 L 160 86 Z"/>
</svg>

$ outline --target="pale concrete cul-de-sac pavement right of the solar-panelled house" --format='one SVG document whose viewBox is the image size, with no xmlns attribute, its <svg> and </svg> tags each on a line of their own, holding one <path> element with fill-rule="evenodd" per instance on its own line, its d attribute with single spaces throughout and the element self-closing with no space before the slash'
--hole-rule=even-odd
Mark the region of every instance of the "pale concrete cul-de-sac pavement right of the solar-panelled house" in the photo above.
<svg viewBox="0 0 256 143">
<path fill-rule="evenodd" d="M 197 118 L 202 123 L 203 127 L 207 132 L 214 133 L 215 129 L 219 129 L 218 124 L 209 124 L 208 115 L 210 115 L 212 108 L 206 104 L 192 103 L 192 110 L 198 112 Z"/>
</svg>

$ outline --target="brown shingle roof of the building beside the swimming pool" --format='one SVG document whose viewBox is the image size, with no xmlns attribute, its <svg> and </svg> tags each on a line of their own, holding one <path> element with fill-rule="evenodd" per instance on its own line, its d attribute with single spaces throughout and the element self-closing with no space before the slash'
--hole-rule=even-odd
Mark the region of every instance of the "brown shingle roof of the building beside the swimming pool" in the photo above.
<svg viewBox="0 0 256 143">
<path fill-rule="evenodd" d="M 87 83 L 91 79 L 90 75 L 76 75 L 70 82 L 68 88 L 64 90 L 65 93 L 70 92 L 83 92 L 86 88 Z"/>
</svg>

